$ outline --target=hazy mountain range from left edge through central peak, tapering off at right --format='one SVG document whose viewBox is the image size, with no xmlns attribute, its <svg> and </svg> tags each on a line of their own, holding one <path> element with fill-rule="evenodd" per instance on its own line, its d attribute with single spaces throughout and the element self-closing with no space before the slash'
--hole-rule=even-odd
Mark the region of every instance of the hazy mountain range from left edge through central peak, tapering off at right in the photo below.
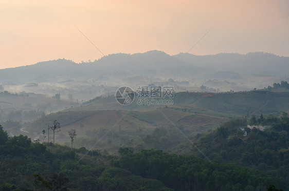
<svg viewBox="0 0 289 191">
<path fill-rule="evenodd" d="M 109 60 L 107 60 L 109 59 Z M 73 61 L 58 59 L 40 62 L 34 65 L 8 68 L 0 70 L 0 80 L 3 84 L 52 82 L 59 80 L 88 80 L 98 75 L 105 75 L 110 80 L 123 79 L 124 73 L 128 78 L 145 76 L 157 80 L 163 73 L 178 62 L 178 59 L 161 51 L 149 51 L 136 54 L 111 54 L 91 63 L 77 64 Z M 121 71 L 119 72 L 118 69 Z M 174 72 L 166 78 L 191 78 L 204 73 L 211 73 L 209 69 L 197 67 L 180 61 Z M 164 79 L 164 80 L 165 80 Z"/>
</svg>

